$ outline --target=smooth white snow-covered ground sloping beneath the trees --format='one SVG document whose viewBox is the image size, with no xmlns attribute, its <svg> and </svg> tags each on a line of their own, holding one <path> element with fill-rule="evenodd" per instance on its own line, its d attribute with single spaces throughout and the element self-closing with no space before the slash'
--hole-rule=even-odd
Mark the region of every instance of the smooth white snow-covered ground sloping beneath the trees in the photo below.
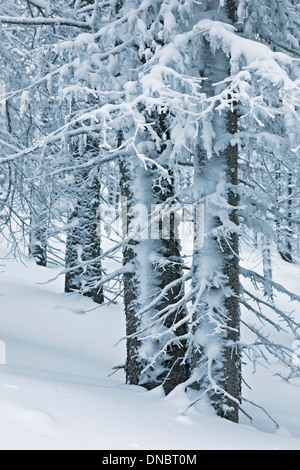
<svg viewBox="0 0 300 470">
<path fill-rule="evenodd" d="M 235 425 L 201 405 L 187 406 L 181 390 L 164 397 L 124 384 L 121 306 L 93 310 L 89 299 L 62 293 L 62 279 L 44 283 L 56 270 L 3 261 L 0 274 L 0 449 L 299 449 L 300 379 L 292 384 L 258 367 L 245 377 L 245 395 L 265 407 Z M 297 289 L 300 266 L 278 260 L 276 273 Z M 2 343 L 3 345 L 3 343 Z M 1 360 L 1 358 L 0 358 Z"/>
</svg>

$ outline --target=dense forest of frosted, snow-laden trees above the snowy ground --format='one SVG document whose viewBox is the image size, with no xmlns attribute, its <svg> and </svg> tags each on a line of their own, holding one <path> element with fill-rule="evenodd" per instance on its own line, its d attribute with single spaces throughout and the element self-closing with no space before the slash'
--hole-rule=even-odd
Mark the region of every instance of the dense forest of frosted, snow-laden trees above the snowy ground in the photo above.
<svg viewBox="0 0 300 470">
<path fill-rule="evenodd" d="M 245 358 L 299 376 L 299 41 L 297 0 L 0 4 L 2 239 L 122 302 L 128 384 L 233 422 Z"/>
</svg>

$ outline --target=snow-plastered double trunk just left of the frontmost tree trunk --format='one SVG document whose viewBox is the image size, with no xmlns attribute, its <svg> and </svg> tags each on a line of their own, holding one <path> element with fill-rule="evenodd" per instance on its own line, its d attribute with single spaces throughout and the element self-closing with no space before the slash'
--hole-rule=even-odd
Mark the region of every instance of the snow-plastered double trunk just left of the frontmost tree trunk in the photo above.
<svg viewBox="0 0 300 470">
<path fill-rule="evenodd" d="M 164 133 L 164 125 L 158 115 L 148 116 L 147 120 L 156 123 L 156 132 Z M 145 136 L 146 140 L 149 141 L 148 135 Z M 158 160 L 160 153 L 153 150 L 149 156 Z M 138 159 L 121 163 L 121 193 L 127 201 L 127 214 L 126 209 L 123 212 L 126 229 L 134 222 L 137 210 L 139 217 L 141 212 L 145 214 L 141 220 L 144 225 L 148 224 L 151 213 L 162 216 L 162 211 L 174 195 L 174 181 L 171 173 L 166 178 L 160 171 L 155 165 L 145 169 Z M 163 319 L 160 315 L 162 311 L 165 314 L 165 309 L 171 309 L 183 296 L 180 282 L 182 259 L 175 215 L 171 214 L 167 220 L 160 219 L 160 222 L 151 221 L 142 237 L 130 239 L 123 255 L 124 264 L 133 267 L 132 272 L 124 275 L 128 337 L 126 379 L 128 383 L 142 385 L 149 390 L 163 385 L 165 392 L 169 393 L 188 378 L 188 366 L 184 363 L 186 340 L 176 341 L 177 337 L 187 334 L 187 326 L 171 330 L 186 316 L 185 308 L 174 308 Z M 174 281 L 174 287 L 155 302 L 162 290 Z M 150 304 L 152 306 L 148 307 Z M 139 315 L 139 312 L 142 313 Z M 159 334 L 163 331 L 166 332 L 165 336 Z M 168 345 L 166 338 L 172 338 Z"/>
</svg>

